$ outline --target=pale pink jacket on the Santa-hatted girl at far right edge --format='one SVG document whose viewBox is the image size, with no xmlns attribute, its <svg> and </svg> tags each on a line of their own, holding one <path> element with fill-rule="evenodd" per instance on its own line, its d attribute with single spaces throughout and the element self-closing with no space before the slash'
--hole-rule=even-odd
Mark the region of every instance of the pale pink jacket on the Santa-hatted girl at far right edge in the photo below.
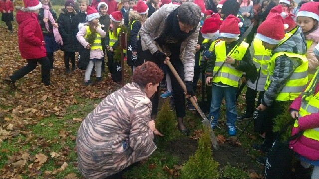
<svg viewBox="0 0 319 179">
<path fill-rule="evenodd" d="M 307 49 L 307 59 L 308 59 L 308 71 L 316 72 L 317 66 L 319 66 L 318 59 L 314 54 L 314 48 L 319 43 L 319 27 L 313 32 L 306 35 L 307 40 L 313 40 L 313 44 Z"/>
</svg>

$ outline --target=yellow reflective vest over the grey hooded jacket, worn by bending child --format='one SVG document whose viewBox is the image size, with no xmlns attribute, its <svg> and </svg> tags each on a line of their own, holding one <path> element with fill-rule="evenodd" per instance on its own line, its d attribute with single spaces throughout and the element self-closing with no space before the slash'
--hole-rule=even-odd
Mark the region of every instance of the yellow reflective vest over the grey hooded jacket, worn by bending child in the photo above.
<svg viewBox="0 0 319 179">
<path fill-rule="evenodd" d="M 293 74 L 286 82 L 284 88 L 280 91 L 280 93 L 277 95 L 275 99 L 276 101 L 290 101 L 297 98 L 299 94 L 306 88 L 308 81 L 308 60 L 305 55 L 294 54 L 289 52 L 278 52 L 273 54 L 270 58 L 268 65 L 268 76 L 265 84 L 265 90 L 267 90 L 270 82 L 273 80 L 272 75 L 275 68 L 275 60 L 277 57 L 282 55 L 286 55 L 291 58 L 299 58 L 302 61 L 302 64 L 294 70 Z"/>
</svg>

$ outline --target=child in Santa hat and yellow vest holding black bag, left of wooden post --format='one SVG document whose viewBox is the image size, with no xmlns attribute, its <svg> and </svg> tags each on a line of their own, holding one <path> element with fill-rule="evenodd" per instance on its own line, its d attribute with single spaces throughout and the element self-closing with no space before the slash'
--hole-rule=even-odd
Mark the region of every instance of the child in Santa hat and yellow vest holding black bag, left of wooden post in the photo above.
<svg viewBox="0 0 319 179">
<path fill-rule="evenodd" d="M 120 32 L 120 23 L 122 22 L 122 13 L 120 11 L 112 12 L 110 15 L 111 18 L 111 29 L 106 35 L 106 49 L 108 62 L 107 66 L 109 72 L 111 73 L 112 80 L 116 83 L 121 83 L 121 63 L 114 60 L 114 50 L 119 45 L 119 32 Z"/>
</svg>

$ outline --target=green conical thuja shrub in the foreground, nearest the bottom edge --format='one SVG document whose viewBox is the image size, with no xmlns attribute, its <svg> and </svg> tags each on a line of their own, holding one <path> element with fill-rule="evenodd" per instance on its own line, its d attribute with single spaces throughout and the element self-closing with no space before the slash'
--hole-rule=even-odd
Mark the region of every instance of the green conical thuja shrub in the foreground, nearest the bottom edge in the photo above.
<svg viewBox="0 0 319 179">
<path fill-rule="evenodd" d="M 210 128 L 203 126 L 203 134 L 199 139 L 198 150 L 184 164 L 181 178 L 218 178 L 218 162 L 212 157 Z M 187 149 L 186 149 L 187 150 Z"/>
</svg>

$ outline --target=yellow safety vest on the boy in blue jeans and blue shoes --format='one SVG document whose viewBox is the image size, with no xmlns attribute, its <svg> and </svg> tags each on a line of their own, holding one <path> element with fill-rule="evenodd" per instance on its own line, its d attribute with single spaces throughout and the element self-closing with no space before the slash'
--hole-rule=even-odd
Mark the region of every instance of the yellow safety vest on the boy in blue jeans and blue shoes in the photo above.
<svg viewBox="0 0 319 179">
<path fill-rule="evenodd" d="M 234 52 L 230 55 L 232 58 L 236 60 L 242 60 L 244 57 L 249 44 L 246 42 L 242 42 L 239 46 L 235 46 L 236 48 Z M 220 41 L 215 45 L 215 54 L 216 54 L 216 62 L 215 67 L 213 69 L 213 76 L 218 71 L 218 69 L 222 66 L 226 59 L 226 42 Z M 224 63 L 221 67 L 218 74 L 213 78 L 213 83 L 223 83 L 229 86 L 238 87 L 239 80 L 242 76 L 243 72 L 235 69 L 235 67 L 231 66 L 231 64 Z"/>
</svg>

